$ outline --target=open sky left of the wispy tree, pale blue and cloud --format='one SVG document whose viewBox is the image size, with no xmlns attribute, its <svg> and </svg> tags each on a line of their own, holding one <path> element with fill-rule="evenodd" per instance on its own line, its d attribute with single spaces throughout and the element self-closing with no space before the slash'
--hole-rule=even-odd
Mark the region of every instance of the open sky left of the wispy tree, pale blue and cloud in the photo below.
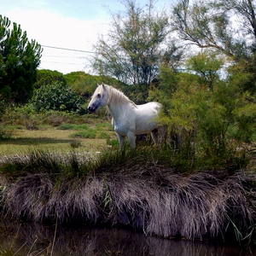
<svg viewBox="0 0 256 256">
<path fill-rule="evenodd" d="M 158 0 L 156 4 L 161 9 L 173 2 Z M 108 32 L 109 10 L 117 13 L 123 9 L 118 0 L 0 0 L 0 15 L 20 24 L 29 39 L 43 46 L 39 68 L 61 73 L 93 73 L 87 61 L 90 53 L 67 49 L 91 51 L 98 36 Z"/>
</svg>

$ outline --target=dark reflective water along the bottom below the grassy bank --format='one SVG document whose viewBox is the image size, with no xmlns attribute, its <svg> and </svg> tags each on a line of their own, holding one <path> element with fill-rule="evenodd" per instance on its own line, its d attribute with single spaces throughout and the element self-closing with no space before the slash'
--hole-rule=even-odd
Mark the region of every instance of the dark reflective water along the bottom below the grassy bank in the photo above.
<svg viewBox="0 0 256 256">
<path fill-rule="evenodd" d="M 52 251 L 53 250 L 53 251 Z M 52 254 L 51 254 L 52 253 Z M 0 224 L 0 255 L 231 256 L 256 252 L 202 242 L 173 241 L 128 230 Z"/>
</svg>

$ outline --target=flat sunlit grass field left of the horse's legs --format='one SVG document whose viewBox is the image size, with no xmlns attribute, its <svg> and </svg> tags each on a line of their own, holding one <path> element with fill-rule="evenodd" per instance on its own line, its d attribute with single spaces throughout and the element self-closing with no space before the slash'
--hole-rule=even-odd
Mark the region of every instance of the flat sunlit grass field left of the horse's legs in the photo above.
<svg viewBox="0 0 256 256">
<path fill-rule="evenodd" d="M 115 137 L 113 131 L 105 130 L 93 130 L 92 128 L 83 130 L 78 127 L 65 129 L 48 127 L 44 130 L 32 131 L 25 128 L 15 129 L 12 131 L 11 137 L 0 141 L 0 157 L 26 154 L 33 149 L 45 149 L 55 153 L 67 153 L 72 150 L 95 153 L 108 147 L 107 139 Z"/>
</svg>

